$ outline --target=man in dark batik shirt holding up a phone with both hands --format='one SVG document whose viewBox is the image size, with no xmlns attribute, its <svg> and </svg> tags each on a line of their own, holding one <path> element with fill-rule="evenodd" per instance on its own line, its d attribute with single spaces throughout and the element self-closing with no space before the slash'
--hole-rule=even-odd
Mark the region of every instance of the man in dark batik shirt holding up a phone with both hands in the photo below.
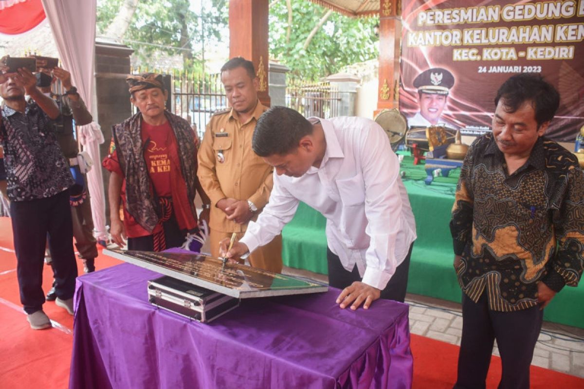
<svg viewBox="0 0 584 389">
<path fill-rule="evenodd" d="M 51 120 L 59 109 L 36 87 L 28 69 L 9 72 L 0 65 L 0 142 L 8 177 L 8 197 L 17 259 L 20 302 L 33 330 L 51 327 L 43 312 L 43 260 L 47 233 L 57 286 L 55 304 L 73 314 L 77 265 L 69 191 L 73 178 L 55 138 Z M 32 102 L 27 103 L 25 93 Z"/>
</svg>

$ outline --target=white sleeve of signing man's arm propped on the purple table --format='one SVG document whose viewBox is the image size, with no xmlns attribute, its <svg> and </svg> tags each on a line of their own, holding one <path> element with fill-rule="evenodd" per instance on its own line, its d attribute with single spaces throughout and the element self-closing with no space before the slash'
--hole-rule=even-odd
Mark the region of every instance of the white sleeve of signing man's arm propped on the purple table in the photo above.
<svg viewBox="0 0 584 389">
<path fill-rule="evenodd" d="M 377 124 L 372 124 L 377 127 Z M 397 268 L 396 242 L 402 223 L 399 160 L 381 128 L 361 138 L 361 170 L 365 181 L 366 251 L 363 282 L 384 289 Z"/>
</svg>

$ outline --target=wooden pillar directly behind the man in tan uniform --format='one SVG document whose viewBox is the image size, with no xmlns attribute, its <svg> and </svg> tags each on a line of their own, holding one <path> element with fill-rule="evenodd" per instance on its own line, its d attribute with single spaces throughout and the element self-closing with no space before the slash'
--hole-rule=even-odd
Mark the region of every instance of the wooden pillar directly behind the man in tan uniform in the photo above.
<svg viewBox="0 0 584 389">
<path fill-rule="evenodd" d="M 230 0 L 229 55 L 253 62 L 259 79 L 258 97 L 270 106 L 268 73 L 268 0 Z"/>
</svg>

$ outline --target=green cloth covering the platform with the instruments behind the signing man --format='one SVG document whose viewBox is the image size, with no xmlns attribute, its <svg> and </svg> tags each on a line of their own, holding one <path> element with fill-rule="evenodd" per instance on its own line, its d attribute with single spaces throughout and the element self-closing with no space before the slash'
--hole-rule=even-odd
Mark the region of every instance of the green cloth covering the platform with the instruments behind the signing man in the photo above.
<svg viewBox="0 0 584 389">
<path fill-rule="evenodd" d="M 408 292 L 460 302 L 461 291 L 452 266 L 450 212 L 459 170 L 449 177 L 436 177 L 426 185 L 424 165 L 413 165 L 405 156 L 403 178 L 416 219 L 418 239 L 413 246 L 409 269 Z M 282 232 L 284 265 L 326 274 L 325 218 L 301 203 L 294 219 Z M 544 320 L 584 328 L 584 282 L 578 288 L 566 287 L 545 309 Z"/>
</svg>

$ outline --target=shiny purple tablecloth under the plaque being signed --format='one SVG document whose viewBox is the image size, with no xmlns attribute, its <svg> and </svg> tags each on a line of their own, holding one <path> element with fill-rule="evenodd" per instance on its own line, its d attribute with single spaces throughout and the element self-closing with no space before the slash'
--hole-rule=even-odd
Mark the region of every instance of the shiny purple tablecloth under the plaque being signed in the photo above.
<svg viewBox="0 0 584 389">
<path fill-rule="evenodd" d="M 210 324 L 156 309 L 121 264 L 77 279 L 70 388 L 409 388 L 408 306 L 327 293 L 242 300 Z"/>
</svg>

